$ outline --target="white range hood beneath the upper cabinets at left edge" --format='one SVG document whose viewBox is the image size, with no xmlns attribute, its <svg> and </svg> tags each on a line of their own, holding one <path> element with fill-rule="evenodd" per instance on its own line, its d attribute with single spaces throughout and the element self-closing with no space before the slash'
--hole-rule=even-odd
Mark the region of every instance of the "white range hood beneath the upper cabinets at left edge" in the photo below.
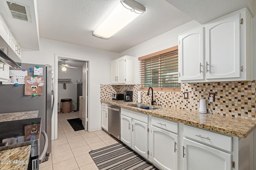
<svg viewBox="0 0 256 170">
<path fill-rule="evenodd" d="M 12 68 L 21 68 L 21 59 L 12 48 L 0 36 L 0 63 L 9 65 Z"/>
</svg>

